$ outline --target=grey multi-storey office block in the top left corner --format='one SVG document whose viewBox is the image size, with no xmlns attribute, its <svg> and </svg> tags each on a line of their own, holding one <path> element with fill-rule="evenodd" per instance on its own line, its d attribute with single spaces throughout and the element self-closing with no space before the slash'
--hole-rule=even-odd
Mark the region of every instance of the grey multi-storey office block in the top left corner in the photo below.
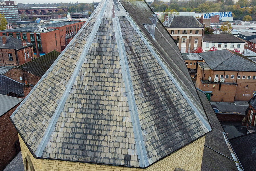
<svg viewBox="0 0 256 171">
<path fill-rule="evenodd" d="M 0 0 L 0 13 L 5 15 L 8 23 L 20 21 L 18 7 L 15 1 Z"/>
</svg>

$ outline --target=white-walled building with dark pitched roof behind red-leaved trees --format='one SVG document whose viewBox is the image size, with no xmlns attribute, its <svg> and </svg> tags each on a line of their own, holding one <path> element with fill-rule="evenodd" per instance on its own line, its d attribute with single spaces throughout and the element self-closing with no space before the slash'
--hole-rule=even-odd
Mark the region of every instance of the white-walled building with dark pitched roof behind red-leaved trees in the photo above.
<svg viewBox="0 0 256 171">
<path fill-rule="evenodd" d="M 217 50 L 222 49 L 238 49 L 243 52 L 245 42 L 237 38 L 236 36 L 227 32 L 220 34 L 205 34 L 202 42 L 202 49 L 208 52 L 212 46 L 215 46 Z"/>
</svg>

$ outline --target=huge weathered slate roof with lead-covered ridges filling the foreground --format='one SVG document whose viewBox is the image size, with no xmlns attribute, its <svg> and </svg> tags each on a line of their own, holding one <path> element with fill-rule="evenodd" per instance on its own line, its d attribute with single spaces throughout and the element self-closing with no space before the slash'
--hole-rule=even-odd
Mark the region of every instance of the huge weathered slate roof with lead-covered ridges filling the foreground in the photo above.
<svg viewBox="0 0 256 171">
<path fill-rule="evenodd" d="M 11 116 L 38 158 L 144 168 L 211 130 L 145 1 L 103 0 Z"/>
</svg>

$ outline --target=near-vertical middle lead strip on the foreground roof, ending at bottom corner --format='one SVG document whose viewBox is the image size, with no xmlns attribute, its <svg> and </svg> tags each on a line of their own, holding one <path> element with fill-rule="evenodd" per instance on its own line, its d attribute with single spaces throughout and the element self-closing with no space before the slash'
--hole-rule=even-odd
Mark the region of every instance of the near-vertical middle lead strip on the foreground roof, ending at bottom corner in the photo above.
<svg viewBox="0 0 256 171">
<path fill-rule="evenodd" d="M 121 27 L 120 27 L 118 17 L 114 17 L 114 18 L 112 18 L 112 20 L 113 20 L 117 49 L 118 49 L 119 58 L 120 58 L 123 82 L 125 85 L 125 91 L 126 91 L 126 95 L 127 95 L 127 99 L 128 99 L 130 113 L 131 113 L 131 121 L 132 121 L 132 125 L 133 125 L 133 132 L 134 132 L 134 137 L 135 137 L 135 145 L 136 145 L 136 149 L 137 149 L 137 155 L 139 158 L 140 167 L 144 168 L 146 166 L 149 166 L 149 163 L 148 163 L 146 148 L 145 148 L 144 141 L 143 141 L 143 135 L 142 135 L 141 125 L 140 125 L 140 120 L 139 120 L 139 114 L 138 114 L 138 109 L 137 109 L 135 96 L 134 96 L 134 92 L 133 92 L 131 75 L 130 75 L 130 71 L 129 71 L 127 56 L 125 53 L 125 46 L 123 43 Z"/>
</svg>

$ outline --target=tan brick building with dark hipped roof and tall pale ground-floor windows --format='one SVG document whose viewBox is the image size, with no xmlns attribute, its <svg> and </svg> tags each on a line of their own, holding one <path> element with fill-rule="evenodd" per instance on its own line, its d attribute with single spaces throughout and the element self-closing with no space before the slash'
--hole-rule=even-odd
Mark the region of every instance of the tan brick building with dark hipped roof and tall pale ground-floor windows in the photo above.
<svg viewBox="0 0 256 171">
<path fill-rule="evenodd" d="M 204 26 L 194 16 L 167 16 L 163 24 L 176 40 L 181 53 L 193 52 L 202 46 Z"/>
</svg>

